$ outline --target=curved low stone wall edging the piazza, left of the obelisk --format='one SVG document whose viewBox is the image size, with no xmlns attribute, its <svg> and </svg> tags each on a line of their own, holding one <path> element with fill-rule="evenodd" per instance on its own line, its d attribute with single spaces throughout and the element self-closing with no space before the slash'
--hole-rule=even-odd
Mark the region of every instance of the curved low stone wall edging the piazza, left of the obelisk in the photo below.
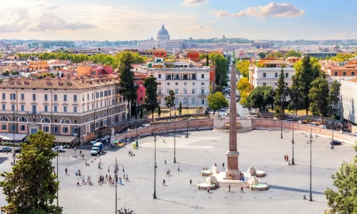
<svg viewBox="0 0 357 214">
<path fill-rule="evenodd" d="M 151 125 L 146 128 L 139 128 L 138 129 L 138 134 L 142 134 L 143 136 L 149 136 L 151 133 L 155 132 L 156 133 L 166 133 L 166 132 L 171 132 L 175 130 L 176 126 L 176 132 L 179 131 L 186 131 L 187 129 L 187 121 L 172 121 L 170 123 L 165 123 L 165 124 L 158 124 L 158 125 Z M 208 119 L 191 119 L 188 121 L 188 130 L 196 130 L 198 128 L 199 130 L 203 129 L 211 129 L 213 128 L 213 119 L 208 118 Z M 122 133 L 119 135 L 116 135 L 114 137 L 115 140 L 119 139 L 124 139 L 124 138 L 130 138 L 136 136 L 136 129 L 130 130 L 126 133 Z"/>
</svg>

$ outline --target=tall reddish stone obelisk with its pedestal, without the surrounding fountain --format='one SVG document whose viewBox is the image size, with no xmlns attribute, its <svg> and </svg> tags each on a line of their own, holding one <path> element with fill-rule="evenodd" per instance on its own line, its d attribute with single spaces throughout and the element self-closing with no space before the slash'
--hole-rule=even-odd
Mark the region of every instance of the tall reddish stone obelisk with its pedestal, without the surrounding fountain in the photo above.
<svg viewBox="0 0 357 214">
<path fill-rule="evenodd" d="M 239 179 L 237 151 L 237 103 L 236 103 L 236 61 L 231 63 L 231 100 L 229 113 L 229 148 L 227 151 L 226 177 L 233 175 L 233 179 Z"/>
</svg>

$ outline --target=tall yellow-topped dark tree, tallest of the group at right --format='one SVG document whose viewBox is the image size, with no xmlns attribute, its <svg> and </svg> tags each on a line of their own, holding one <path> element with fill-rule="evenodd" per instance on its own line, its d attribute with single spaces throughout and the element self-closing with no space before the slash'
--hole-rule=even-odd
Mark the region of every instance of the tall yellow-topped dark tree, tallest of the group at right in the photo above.
<svg viewBox="0 0 357 214">
<path fill-rule="evenodd" d="M 308 115 L 308 108 L 310 106 L 310 100 L 308 98 L 308 93 L 311 88 L 311 83 L 320 74 L 320 64 L 317 58 L 310 58 L 310 56 L 305 56 L 301 61 L 298 61 L 294 65 L 295 75 L 293 75 L 292 88 L 294 90 L 300 90 L 301 93 L 296 93 L 296 95 L 301 96 L 296 98 L 298 101 L 303 102 L 303 108 L 306 109 L 306 116 Z"/>
</svg>

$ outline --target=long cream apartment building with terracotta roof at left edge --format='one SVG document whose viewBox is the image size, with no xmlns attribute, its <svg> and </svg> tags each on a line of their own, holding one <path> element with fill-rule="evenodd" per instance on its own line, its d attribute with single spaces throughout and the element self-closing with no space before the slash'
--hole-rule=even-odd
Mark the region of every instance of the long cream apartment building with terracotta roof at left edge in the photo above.
<svg viewBox="0 0 357 214">
<path fill-rule="evenodd" d="M 111 78 L 16 79 L 0 85 L 0 133 L 54 134 L 61 143 L 114 126 L 127 117 L 119 81 Z"/>
</svg>

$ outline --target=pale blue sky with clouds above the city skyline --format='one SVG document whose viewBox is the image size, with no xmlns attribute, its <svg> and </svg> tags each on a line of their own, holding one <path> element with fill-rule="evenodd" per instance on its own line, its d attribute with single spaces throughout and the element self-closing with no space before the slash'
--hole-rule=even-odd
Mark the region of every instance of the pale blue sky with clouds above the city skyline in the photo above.
<svg viewBox="0 0 357 214">
<path fill-rule="evenodd" d="M 0 39 L 357 39 L 352 0 L 0 0 Z"/>
</svg>

